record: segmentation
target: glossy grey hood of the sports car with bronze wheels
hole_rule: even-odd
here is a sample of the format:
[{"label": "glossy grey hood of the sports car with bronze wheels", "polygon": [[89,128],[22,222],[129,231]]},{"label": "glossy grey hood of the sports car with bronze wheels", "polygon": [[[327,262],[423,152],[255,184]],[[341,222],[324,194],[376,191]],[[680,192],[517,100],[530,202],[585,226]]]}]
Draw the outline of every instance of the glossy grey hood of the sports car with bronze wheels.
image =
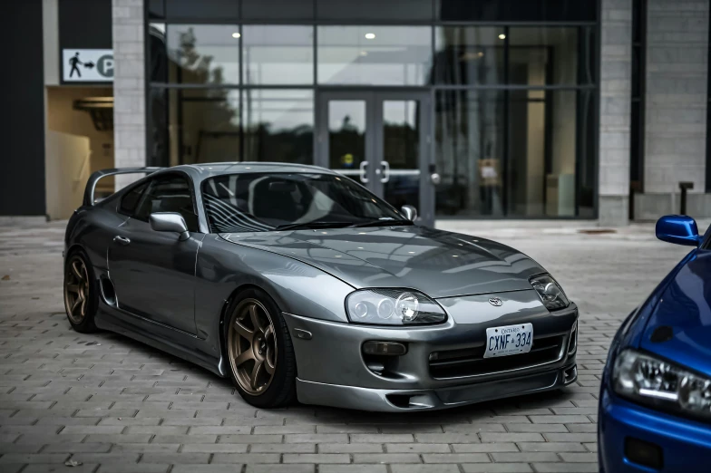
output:
[{"label": "glossy grey hood of the sports car with bronze wheels", "polygon": [[409,287],[435,298],[531,289],[529,277],[544,272],[509,246],[426,227],[220,236],[316,266],[355,288]]}]

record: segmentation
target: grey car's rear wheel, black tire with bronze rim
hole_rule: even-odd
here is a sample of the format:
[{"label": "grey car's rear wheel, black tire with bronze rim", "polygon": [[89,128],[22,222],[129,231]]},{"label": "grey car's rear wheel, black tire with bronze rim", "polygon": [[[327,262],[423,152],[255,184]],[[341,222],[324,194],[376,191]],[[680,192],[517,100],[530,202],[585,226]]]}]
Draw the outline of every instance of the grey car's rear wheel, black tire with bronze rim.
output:
[{"label": "grey car's rear wheel, black tire with bronze rim", "polygon": [[64,310],[79,333],[97,332],[94,316],[99,308],[99,285],[89,257],[76,250],[64,260]]}]

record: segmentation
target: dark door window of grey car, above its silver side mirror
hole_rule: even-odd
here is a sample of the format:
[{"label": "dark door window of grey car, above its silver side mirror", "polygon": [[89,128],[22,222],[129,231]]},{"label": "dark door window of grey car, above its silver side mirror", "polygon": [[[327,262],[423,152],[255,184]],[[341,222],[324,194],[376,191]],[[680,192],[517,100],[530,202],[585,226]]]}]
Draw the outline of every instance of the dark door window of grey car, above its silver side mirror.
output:
[{"label": "dark door window of grey car, above its silver side mirror", "polygon": [[180,176],[165,176],[151,180],[133,217],[148,221],[153,212],[178,212],[188,230],[197,232],[198,216],[195,215],[188,180]]}]

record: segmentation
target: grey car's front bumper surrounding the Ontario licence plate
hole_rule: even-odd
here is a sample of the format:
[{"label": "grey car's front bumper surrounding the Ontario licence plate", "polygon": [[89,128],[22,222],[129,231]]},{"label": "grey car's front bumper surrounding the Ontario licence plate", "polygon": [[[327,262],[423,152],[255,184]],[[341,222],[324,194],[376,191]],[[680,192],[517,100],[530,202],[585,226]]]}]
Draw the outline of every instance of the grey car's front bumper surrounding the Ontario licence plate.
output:
[{"label": "grey car's front bumper surrounding the Ontario licence plate", "polygon": [[[557,389],[575,381],[576,350],[570,344],[578,319],[575,304],[551,314],[533,290],[496,295],[503,301],[501,307],[489,304],[489,295],[439,300],[448,319],[429,326],[333,323],[283,314],[297,357],[299,401],[360,410],[443,409]],[[486,328],[518,323],[533,325],[531,353],[504,357],[496,369],[480,363]],[[551,350],[545,360],[532,356],[539,339],[546,337],[559,340],[560,348]],[[363,353],[363,344],[371,341],[403,343],[407,352],[373,360]],[[450,363],[438,357],[452,352],[472,353],[457,367],[477,368],[438,371],[435,365]],[[378,364],[385,369],[375,370]]]}]

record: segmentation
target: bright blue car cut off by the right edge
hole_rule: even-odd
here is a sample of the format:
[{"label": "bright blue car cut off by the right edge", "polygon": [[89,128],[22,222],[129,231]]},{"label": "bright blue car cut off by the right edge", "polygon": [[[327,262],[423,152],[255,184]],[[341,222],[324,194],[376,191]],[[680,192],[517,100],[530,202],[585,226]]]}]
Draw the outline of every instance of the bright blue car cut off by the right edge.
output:
[{"label": "bright blue car cut off by the right edge", "polygon": [[711,471],[711,232],[662,217],[657,238],[695,248],[622,323],[599,397],[606,473]]}]

